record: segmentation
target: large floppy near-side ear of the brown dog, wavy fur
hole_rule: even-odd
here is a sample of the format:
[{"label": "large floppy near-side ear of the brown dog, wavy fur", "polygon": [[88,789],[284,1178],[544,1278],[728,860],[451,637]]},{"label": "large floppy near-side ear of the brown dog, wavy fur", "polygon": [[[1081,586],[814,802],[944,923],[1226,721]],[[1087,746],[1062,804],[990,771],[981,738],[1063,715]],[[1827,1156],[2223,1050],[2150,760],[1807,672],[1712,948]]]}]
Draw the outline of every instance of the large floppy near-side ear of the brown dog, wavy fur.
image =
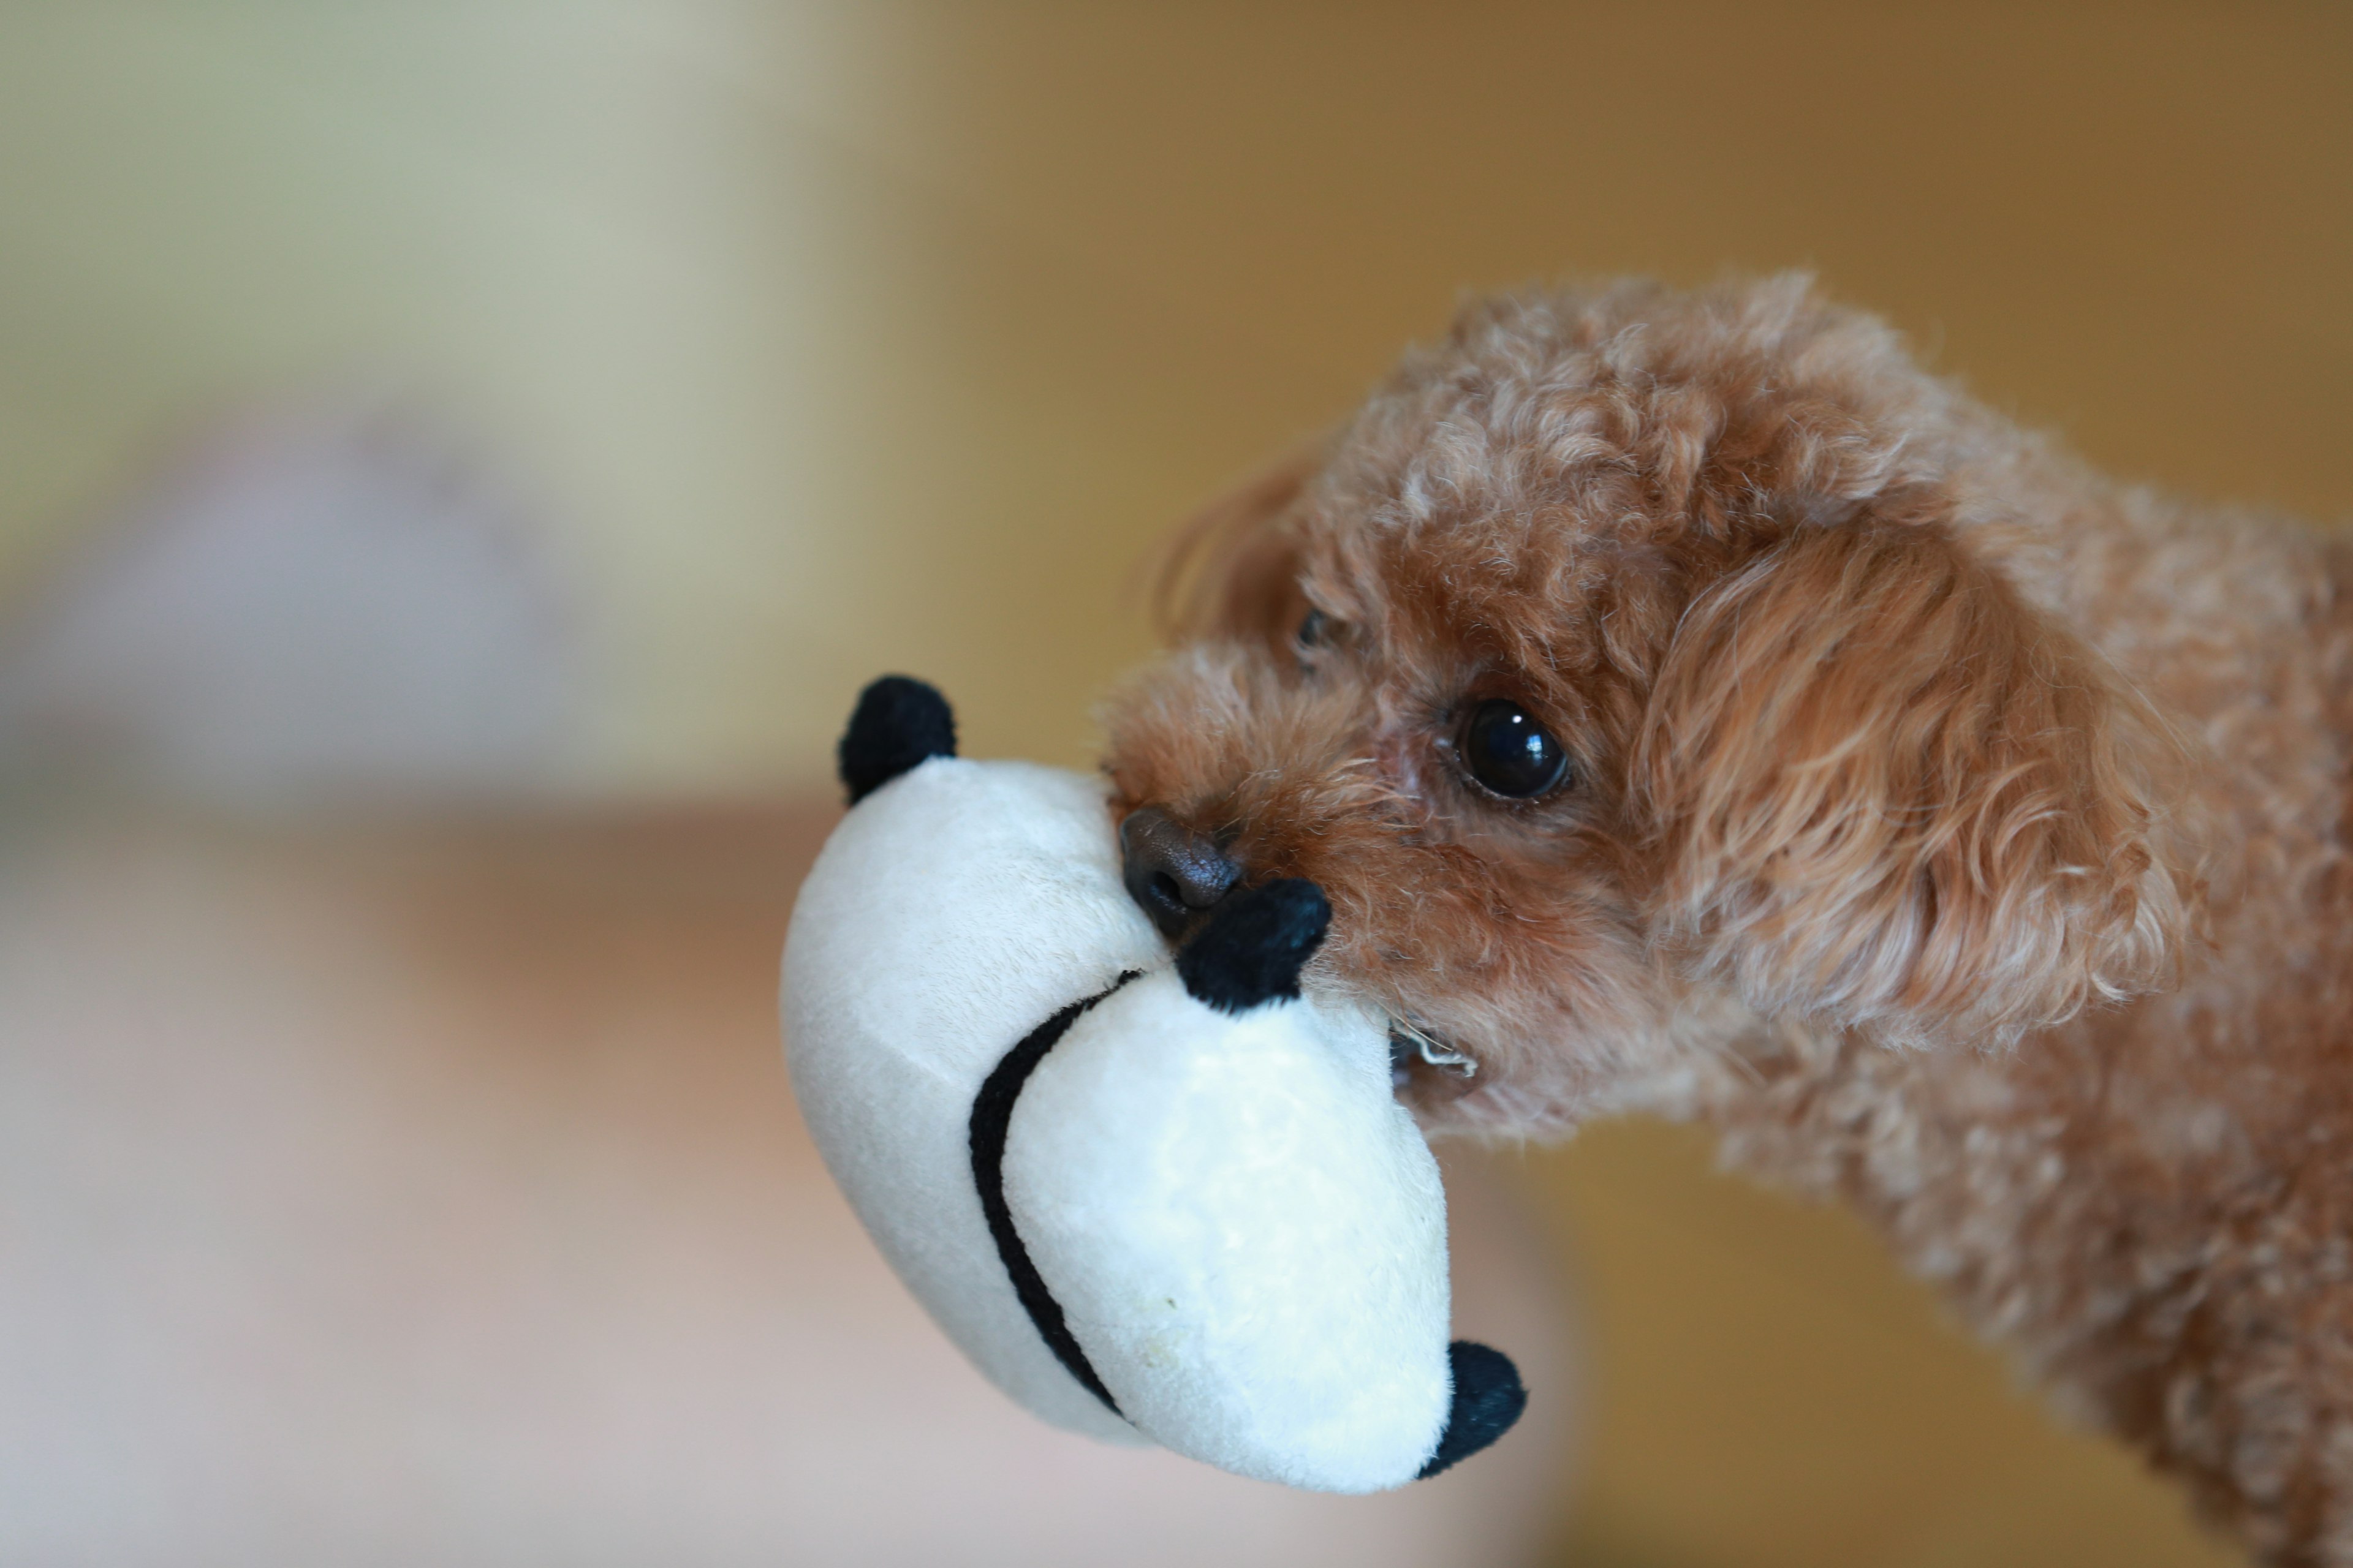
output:
[{"label": "large floppy near-side ear of the brown dog, wavy fur", "polygon": [[2200,882],[2181,745],[1929,522],[1805,522],[1706,588],[1631,795],[1659,924],[1755,1009],[2007,1044],[2162,985]]}]

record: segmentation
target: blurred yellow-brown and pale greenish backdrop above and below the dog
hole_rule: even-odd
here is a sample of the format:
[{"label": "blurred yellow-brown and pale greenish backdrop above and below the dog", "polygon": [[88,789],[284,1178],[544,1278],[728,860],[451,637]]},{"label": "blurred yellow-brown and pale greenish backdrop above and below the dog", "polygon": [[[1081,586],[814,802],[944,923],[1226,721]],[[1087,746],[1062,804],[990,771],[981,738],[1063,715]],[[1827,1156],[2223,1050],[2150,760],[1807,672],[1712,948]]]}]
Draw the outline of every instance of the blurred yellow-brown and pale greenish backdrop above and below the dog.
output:
[{"label": "blurred yellow-brown and pale greenish backdrop above and below the dog", "polygon": [[[824,788],[859,682],[1089,755],[1134,567],[1466,289],[1809,266],[2111,470],[2353,510],[2353,12],[567,0],[0,12],[0,590],[339,388],[536,501],[576,788]],[[1565,1561],[2224,1561],[1668,1128],[1577,1258]],[[1567,1507],[1567,1483],[1562,1483]]]}]

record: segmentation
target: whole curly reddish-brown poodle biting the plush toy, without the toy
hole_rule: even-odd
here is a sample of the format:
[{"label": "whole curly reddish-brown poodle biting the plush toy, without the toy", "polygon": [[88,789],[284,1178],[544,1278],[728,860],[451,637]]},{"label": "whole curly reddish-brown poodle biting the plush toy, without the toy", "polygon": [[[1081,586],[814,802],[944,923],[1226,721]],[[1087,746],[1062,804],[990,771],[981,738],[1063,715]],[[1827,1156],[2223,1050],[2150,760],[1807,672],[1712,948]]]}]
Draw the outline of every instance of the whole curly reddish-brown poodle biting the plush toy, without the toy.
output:
[{"label": "whole curly reddish-brown poodle biting the plush toy, without the toy", "polygon": [[[1708,1117],[2353,1563],[2353,555],[1791,280],[1478,306],[1209,534],[1120,804],[1325,886],[1327,980],[1475,1065],[1433,1124]],[[1558,780],[1482,783],[1489,710]]]}]

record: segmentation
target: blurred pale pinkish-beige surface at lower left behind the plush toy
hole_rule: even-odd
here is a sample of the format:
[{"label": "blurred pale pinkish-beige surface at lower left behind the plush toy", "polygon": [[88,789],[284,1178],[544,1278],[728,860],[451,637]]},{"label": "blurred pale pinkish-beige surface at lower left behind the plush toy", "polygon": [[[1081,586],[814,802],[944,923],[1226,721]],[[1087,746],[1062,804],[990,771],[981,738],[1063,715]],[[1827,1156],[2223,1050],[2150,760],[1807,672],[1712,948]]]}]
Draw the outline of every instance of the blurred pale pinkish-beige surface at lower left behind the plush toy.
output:
[{"label": "blurred pale pinkish-beige surface at lower left behind the plush toy", "polygon": [[0,837],[0,1561],[1527,1563],[1546,1248],[1449,1173],[1537,1403],[1384,1497],[1047,1429],[925,1321],[776,1051],[805,811]]}]

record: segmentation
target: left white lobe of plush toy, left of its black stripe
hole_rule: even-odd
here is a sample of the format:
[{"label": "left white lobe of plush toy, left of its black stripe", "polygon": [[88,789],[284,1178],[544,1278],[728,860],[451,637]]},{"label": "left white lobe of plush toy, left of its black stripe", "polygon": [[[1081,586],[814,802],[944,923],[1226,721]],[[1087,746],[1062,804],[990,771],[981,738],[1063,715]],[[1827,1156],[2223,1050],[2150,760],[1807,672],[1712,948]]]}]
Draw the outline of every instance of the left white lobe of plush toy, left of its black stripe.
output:
[{"label": "left white lobe of plush toy, left of its black stripe", "polygon": [[842,818],[784,947],[793,1093],[849,1206],[991,1382],[1113,1441],[1134,1429],[1071,1380],[998,1260],[972,1185],[972,1098],[1056,1011],[1165,961],[1120,889],[1101,785],[953,757]]}]

